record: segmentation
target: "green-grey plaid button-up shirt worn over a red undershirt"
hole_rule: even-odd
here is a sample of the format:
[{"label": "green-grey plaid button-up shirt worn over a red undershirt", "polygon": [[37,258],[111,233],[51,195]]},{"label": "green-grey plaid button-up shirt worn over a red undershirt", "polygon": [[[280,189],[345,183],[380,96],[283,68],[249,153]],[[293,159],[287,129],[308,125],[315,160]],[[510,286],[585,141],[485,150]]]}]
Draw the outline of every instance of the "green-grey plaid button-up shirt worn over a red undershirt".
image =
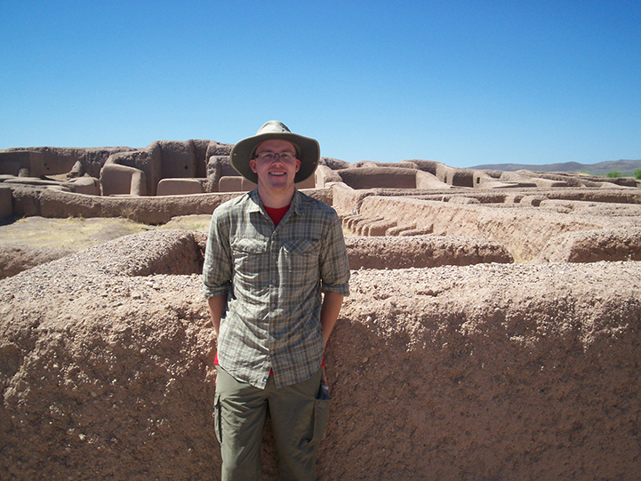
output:
[{"label": "green-grey plaid button-up shirt worn over a red undershirt", "polygon": [[212,214],[204,296],[227,294],[218,362],[236,380],[264,389],[309,379],[323,360],[321,292],[349,295],[349,263],[332,207],[300,193],[277,227],[257,190]]}]

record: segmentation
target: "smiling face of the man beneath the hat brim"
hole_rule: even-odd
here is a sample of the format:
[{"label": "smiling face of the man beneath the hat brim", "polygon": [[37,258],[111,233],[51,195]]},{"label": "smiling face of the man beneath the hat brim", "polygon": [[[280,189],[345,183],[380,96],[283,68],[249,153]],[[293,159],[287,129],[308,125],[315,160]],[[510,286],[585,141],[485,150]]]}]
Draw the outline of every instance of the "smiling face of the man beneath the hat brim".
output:
[{"label": "smiling face of the man beneath the hat brim", "polygon": [[258,175],[259,183],[270,190],[287,190],[293,187],[296,172],[300,169],[300,160],[286,160],[275,156],[271,160],[261,158],[260,154],[282,154],[284,152],[296,155],[296,148],[286,140],[265,140],[256,148],[255,156],[249,161],[252,171]]}]

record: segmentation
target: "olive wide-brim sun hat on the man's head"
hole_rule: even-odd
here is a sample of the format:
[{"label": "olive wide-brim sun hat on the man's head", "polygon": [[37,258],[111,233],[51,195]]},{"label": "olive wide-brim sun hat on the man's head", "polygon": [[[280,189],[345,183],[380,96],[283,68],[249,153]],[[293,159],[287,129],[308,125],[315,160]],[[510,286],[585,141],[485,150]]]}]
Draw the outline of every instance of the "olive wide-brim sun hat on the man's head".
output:
[{"label": "olive wide-brim sun hat on the man's head", "polygon": [[245,179],[252,180],[254,184],[258,183],[258,175],[252,171],[249,161],[253,158],[256,148],[265,140],[287,140],[296,148],[296,156],[300,160],[300,169],[296,172],[294,182],[302,182],[316,171],[320,161],[320,146],[315,139],[303,137],[297,133],[292,133],[287,125],[277,120],[270,120],[264,124],[256,135],[240,140],[234,148],[231,149],[229,158],[232,166]]}]

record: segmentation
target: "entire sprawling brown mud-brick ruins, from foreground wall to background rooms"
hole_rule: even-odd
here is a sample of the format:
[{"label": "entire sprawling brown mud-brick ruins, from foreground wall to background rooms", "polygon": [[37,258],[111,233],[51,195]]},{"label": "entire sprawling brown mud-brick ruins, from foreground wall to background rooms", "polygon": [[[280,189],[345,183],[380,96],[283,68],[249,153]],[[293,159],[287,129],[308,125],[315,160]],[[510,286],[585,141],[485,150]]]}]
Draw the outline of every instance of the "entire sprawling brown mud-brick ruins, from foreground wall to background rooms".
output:
[{"label": "entire sprawling brown mud-brick ruins, from foreground wall to background rooms", "polygon": [[[252,187],[225,144],[184,144],[99,149],[100,169],[69,159],[78,175],[36,179],[21,154],[0,183],[4,212],[161,224]],[[168,151],[188,164],[163,167]],[[189,164],[192,151],[203,160]],[[127,193],[74,191],[85,180],[104,194],[105,168]],[[324,158],[304,192],[339,212],[352,268],[325,353],[318,479],[638,478],[635,180]],[[150,229],[0,280],[1,479],[220,478],[205,239]]]}]

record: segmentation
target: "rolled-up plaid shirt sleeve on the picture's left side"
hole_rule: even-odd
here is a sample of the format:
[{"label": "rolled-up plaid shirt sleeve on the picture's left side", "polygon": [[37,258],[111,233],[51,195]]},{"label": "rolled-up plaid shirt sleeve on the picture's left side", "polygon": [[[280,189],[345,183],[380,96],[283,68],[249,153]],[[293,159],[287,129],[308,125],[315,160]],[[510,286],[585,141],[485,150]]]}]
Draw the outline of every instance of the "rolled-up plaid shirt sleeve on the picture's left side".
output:
[{"label": "rolled-up plaid shirt sleeve on the picture's left side", "polygon": [[214,211],[204,250],[203,293],[209,299],[226,294],[231,286],[232,256],[229,247],[229,221],[224,212]]}]

